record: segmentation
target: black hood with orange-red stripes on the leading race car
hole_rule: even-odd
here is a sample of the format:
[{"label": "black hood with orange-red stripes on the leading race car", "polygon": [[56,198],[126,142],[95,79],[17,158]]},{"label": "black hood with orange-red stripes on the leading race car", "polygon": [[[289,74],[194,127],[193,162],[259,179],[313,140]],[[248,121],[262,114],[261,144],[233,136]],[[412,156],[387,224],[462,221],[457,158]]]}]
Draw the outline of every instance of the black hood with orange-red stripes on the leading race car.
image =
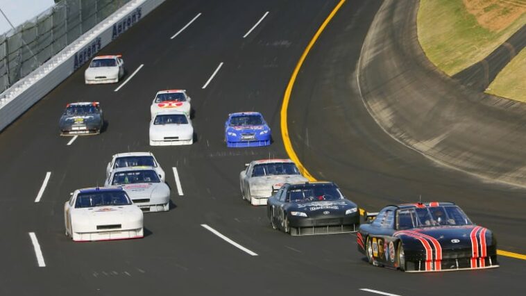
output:
[{"label": "black hood with orange-red stripes on the leading race car", "polygon": [[[475,229],[477,228],[477,229]],[[474,231],[475,229],[475,231]],[[480,240],[481,231],[484,227],[477,227],[476,225],[467,226],[442,226],[442,227],[423,227],[417,229],[408,229],[397,231],[395,236],[403,236],[403,233],[421,233],[424,236],[430,236],[439,241],[443,249],[465,249],[471,247],[471,236],[473,233],[477,241]],[[489,229],[485,230],[486,245],[493,245],[493,236]],[[407,237],[407,236],[405,236]],[[409,237],[410,241],[414,241],[418,248],[421,247],[420,242]],[[404,243],[406,240],[404,241]]]}]

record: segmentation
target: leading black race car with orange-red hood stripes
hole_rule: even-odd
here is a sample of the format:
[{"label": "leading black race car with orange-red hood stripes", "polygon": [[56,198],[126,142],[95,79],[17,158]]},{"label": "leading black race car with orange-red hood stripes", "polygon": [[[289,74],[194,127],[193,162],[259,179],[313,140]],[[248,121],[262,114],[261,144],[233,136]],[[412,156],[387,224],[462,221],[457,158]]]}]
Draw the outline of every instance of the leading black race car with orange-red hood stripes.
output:
[{"label": "leading black race car with orange-red hood stripes", "polygon": [[386,206],[357,232],[358,251],[376,266],[405,272],[497,268],[497,240],[451,202]]}]

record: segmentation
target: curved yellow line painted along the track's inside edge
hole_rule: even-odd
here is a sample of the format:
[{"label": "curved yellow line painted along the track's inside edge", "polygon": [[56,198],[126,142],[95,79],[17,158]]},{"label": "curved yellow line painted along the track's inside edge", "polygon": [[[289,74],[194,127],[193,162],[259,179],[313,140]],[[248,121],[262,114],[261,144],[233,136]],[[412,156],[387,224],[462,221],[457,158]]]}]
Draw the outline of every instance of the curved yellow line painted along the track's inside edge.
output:
[{"label": "curved yellow line painted along the track's inside edge", "polygon": [[[296,82],[296,78],[298,77],[298,73],[300,72],[301,66],[303,65],[303,62],[305,62],[305,58],[307,58],[307,55],[309,54],[309,51],[312,49],[318,38],[320,37],[323,30],[325,30],[325,27],[327,24],[329,24],[330,20],[336,15],[338,10],[341,8],[343,3],[345,3],[346,0],[339,1],[338,5],[334,7],[334,9],[331,11],[330,15],[325,19],[323,24],[318,28],[318,31],[316,31],[316,34],[314,34],[314,37],[312,40],[310,40],[309,44],[307,45],[307,48],[305,48],[305,51],[303,51],[303,54],[300,57],[300,60],[298,60],[298,63],[296,64],[296,67],[294,68],[294,72],[292,72],[291,78],[289,80],[289,84],[287,85],[287,89],[285,90],[285,94],[283,96],[283,103],[281,105],[281,137],[283,138],[283,145],[285,146],[285,151],[287,151],[287,154],[289,155],[289,158],[296,163],[298,166],[298,169],[303,174],[303,176],[307,177],[309,181],[316,181],[316,178],[312,176],[312,174],[309,173],[306,167],[303,166],[303,163],[301,163],[300,158],[298,158],[298,155],[296,155],[296,151],[294,151],[294,148],[292,147],[291,140],[289,138],[289,126],[287,124],[287,110],[289,108],[289,101],[292,94],[292,88],[294,87],[294,83]],[[359,209],[360,215],[364,215],[365,210],[363,208]],[[526,260],[526,255],[513,253],[513,252],[507,252],[502,251],[502,249],[497,250],[497,254],[500,256],[506,256],[511,258],[517,258]]]}]

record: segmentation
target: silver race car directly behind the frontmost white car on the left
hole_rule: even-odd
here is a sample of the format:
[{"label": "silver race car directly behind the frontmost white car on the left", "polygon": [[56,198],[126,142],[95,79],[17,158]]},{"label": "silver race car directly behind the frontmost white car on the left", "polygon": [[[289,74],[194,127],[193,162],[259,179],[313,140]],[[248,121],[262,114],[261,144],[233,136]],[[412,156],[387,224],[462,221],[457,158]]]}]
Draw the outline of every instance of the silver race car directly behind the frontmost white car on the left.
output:
[{"label": "silver race car directly behind the frontmost white car on the left", "polygon": [[161,212],[170,209],[170,188],[159,179],[153,167],[114,169],[104,186],[123,188],[133,204],[144,212]]}]

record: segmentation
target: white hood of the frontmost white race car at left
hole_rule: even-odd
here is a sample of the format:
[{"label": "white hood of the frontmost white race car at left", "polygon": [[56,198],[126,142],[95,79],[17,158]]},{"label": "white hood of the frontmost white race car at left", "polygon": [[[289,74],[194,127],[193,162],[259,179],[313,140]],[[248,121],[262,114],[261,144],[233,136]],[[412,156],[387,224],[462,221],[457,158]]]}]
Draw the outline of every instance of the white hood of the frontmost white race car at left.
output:
[{"label": "white hood of the frontmost white race car at left", "polygon": [[71,214],[77,222],[99,225],[134,221],[142,217],[142,211],[135,205],[75,208]]}]

